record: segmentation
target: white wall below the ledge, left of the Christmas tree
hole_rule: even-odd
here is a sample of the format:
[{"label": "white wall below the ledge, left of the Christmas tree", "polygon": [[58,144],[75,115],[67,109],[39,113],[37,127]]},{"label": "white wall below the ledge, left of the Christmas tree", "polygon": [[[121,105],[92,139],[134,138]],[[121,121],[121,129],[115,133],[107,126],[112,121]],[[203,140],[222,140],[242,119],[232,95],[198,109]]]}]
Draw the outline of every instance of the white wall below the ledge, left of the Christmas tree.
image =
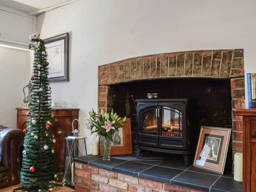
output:
[{"label": "white wall below the ledge, left of the Christmas tree", "polygon": [[24,107],[29,52],[0,46],[0,125],[16,127],[16,107]]}]

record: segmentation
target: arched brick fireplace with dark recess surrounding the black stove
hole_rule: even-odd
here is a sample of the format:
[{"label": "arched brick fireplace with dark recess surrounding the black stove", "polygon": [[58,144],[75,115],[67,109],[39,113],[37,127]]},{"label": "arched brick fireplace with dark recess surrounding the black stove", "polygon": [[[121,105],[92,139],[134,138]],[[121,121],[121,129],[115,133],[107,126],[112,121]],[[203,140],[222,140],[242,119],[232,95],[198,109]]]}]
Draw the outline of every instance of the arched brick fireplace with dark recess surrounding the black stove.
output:
[{"label": "arched brick fireplace with dark recess surrounding the black stove", "polygon": [[[230,155],[226,166],[232,167],[232,154],[242,152],[242,121],[234,113],[235,109],[245,108],[242,49],[176,52],[130,58],[99,66],[98,75],[98,106],[106,111],[114,108],[116,112],[132,119],[133,147],[138,145],[138,126],[136,103],[131,96],[141,100],[146,99],[148,92],[156,92],[161,99],[197,100],[197,111],[191,113],[188,112],[190,107],[186,108],[189,127],[191,119],[198,120],[199,128],[201,125],[232,127]],[[159,132],[159,126],[157,130]],[[198,133],[192,135],[198,136]]]}]

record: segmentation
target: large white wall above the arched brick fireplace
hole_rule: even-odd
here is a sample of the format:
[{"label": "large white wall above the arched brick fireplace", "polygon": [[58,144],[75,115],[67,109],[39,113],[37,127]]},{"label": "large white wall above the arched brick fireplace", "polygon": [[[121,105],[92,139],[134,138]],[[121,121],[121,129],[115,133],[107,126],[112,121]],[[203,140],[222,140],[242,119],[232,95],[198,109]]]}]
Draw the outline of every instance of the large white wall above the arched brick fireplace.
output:
[{"label": "large white wall above the arched brick fireplace", "polygon": [[78,0],[42,14],[42,38],[70,32],[70,82],[53,83],[52,97],[80,108],[84,124],[97,107],[97,66],[163,52],[244,48],[245,72],[256,72],[255,3]]}]

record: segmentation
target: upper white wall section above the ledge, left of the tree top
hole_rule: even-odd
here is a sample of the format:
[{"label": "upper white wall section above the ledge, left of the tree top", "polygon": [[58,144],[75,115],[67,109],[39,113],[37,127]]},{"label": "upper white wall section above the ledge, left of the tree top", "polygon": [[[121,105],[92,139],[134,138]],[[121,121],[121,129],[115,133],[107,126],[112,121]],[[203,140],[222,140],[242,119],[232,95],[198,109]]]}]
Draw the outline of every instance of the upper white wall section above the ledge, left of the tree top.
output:
[{"label": "upper white wall section above the ledge, left of the tree top", "polygon": [[1,44],[27,47],[28,36],[36,30],[36,17],[19,10],[0,6]]}]

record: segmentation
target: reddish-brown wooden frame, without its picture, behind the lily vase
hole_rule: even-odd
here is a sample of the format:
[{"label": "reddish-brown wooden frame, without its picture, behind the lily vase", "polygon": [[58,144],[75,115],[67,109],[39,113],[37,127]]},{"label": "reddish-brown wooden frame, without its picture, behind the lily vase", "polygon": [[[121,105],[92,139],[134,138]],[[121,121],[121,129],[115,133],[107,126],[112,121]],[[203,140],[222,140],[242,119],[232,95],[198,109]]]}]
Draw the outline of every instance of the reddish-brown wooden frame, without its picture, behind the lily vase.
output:
[{"label": "reddish-brown wooden frame, without its picture, behind the lily vase", "polygon": [[[112,144],[110,155],[128,155],[132,154],[132,134],[131,134],[131,119],[126,118],[126,124],[122,129],[122,144]],[[100,155],[102,156],[102,148],[100,147]]]}]

